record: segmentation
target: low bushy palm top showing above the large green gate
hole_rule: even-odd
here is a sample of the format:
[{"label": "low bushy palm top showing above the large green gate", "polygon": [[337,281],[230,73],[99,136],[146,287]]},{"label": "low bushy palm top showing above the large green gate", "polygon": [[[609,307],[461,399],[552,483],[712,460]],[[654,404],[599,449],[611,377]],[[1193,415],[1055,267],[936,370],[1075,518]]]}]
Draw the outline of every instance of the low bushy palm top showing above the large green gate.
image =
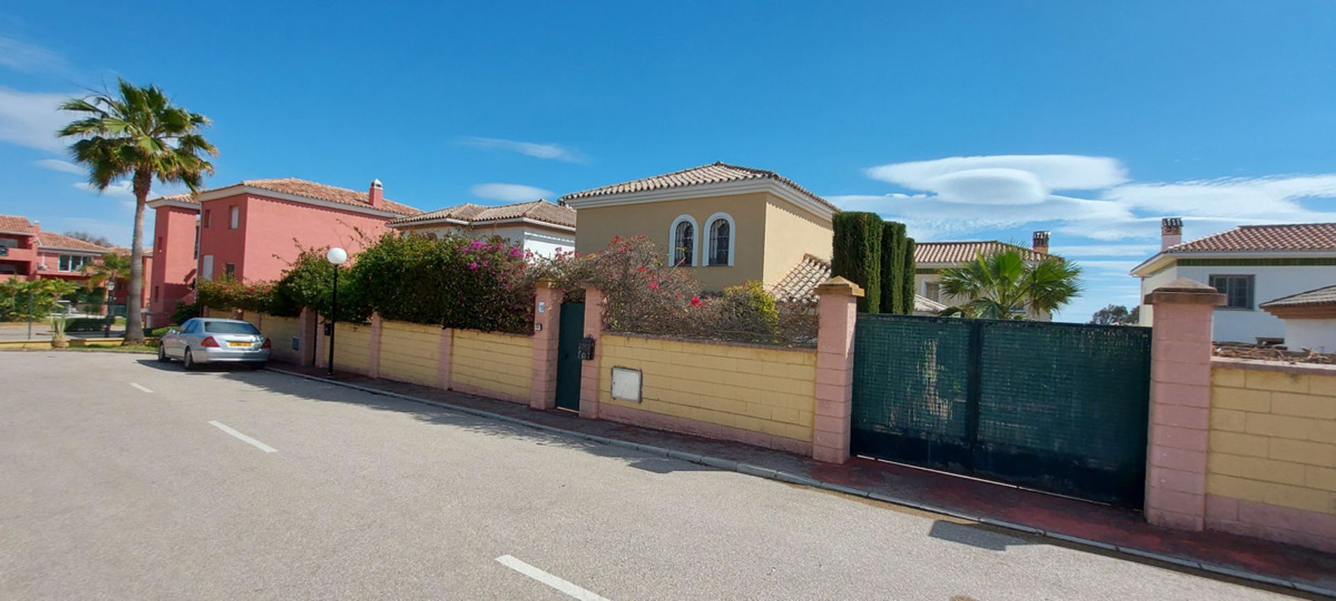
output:
[{"label": "low bushy palm top showing above the large green gate", "polygon": [[941,290],[967,299],[943,315],[1025,319],[1051,314],[1081,295],[1081,267],[1057,256],[1026,264],[1019,248],[997,250],[942,270]]}]

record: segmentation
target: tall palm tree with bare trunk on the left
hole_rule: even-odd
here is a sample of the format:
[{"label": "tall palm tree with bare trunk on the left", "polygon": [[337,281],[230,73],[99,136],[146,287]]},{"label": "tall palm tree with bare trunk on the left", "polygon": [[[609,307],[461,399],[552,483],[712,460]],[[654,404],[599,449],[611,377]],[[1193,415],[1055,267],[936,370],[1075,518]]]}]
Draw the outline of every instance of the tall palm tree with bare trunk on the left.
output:
[{"label": "tall palm tree with bare trunk on the left", "polygon": [[130,178],[135,192],[135,234],[130,244],[130,296],[126,303],[126,345],[144,342],[140,315],[143,299],[144,207],[154,178],[162,183],[184,183],[198,191],[214,166],[203,155],[218,150],[200,134],[208,118],[171,103],[156,85],[140,88],[118,81],[118,96],[94,93],[69,99],[63,111],[86,115],[59,131],[61,138],[77,138],[69,146],[75,162],[88,167],[88,183],[99,191],[120,178]]}]

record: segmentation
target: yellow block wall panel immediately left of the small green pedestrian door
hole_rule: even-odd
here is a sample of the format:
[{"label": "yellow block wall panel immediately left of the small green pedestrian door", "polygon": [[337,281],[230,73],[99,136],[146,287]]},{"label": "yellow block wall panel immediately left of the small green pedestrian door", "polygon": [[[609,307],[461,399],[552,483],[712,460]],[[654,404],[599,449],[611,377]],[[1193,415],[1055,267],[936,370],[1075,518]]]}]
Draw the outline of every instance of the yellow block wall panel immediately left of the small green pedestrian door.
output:
[{"label": "yellow block wall panel immediately left of the small green pedestrian door", "polygon": [[490,391],[512,401],[528,399],[532,365],[533,339],[529,337],[454,330],[450,355],[453,385]]}]

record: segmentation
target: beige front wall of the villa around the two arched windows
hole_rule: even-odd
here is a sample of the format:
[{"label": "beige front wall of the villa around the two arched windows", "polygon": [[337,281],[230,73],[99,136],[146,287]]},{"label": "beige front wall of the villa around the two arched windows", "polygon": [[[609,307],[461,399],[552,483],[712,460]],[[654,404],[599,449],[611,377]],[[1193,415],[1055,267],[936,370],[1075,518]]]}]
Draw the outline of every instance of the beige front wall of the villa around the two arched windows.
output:
[{"label": "beige front wall of the villa around the two arched windows", "polygon": [[[673,219],[679,215],[691,215],[696,219],[696,255],[697,263],[700,263],[705,256],[709,240],[705,219],[716,212],[727,212],[733,218],[736,226],[733,266],[692,267],[692,274],[707,290],[723,290],[725,286],[764,279],[767,198],[767,194],[756,192],[581,208],[580,228],[576,231],[576,251],[580,254],[595,252],[605,248],[616,236],[644,235],[667,258],[671,248],[668,230],[672,227]],[[830,252],[828,240],[826,247],[826,252]],[[795,260],[794,264],[796,263]]]}]

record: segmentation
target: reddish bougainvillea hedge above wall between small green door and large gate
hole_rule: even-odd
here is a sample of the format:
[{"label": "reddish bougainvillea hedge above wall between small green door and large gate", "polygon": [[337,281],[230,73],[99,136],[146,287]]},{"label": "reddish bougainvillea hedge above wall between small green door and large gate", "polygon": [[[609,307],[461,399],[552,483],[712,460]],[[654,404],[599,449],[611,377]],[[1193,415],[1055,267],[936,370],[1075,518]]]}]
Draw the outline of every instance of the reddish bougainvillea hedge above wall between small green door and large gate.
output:
[{"label": "reddish bougainvillea hedge above wall between small green door and large gate", "polygon": [[607,248],[538,260],[528,279],[548,278],[568,290],[603,291],[604,329],[763,345],[816,342],[814,303],[782,303],[760,282],[703,292],[687,268],[667,264],[644,236],[615,238]]}]

